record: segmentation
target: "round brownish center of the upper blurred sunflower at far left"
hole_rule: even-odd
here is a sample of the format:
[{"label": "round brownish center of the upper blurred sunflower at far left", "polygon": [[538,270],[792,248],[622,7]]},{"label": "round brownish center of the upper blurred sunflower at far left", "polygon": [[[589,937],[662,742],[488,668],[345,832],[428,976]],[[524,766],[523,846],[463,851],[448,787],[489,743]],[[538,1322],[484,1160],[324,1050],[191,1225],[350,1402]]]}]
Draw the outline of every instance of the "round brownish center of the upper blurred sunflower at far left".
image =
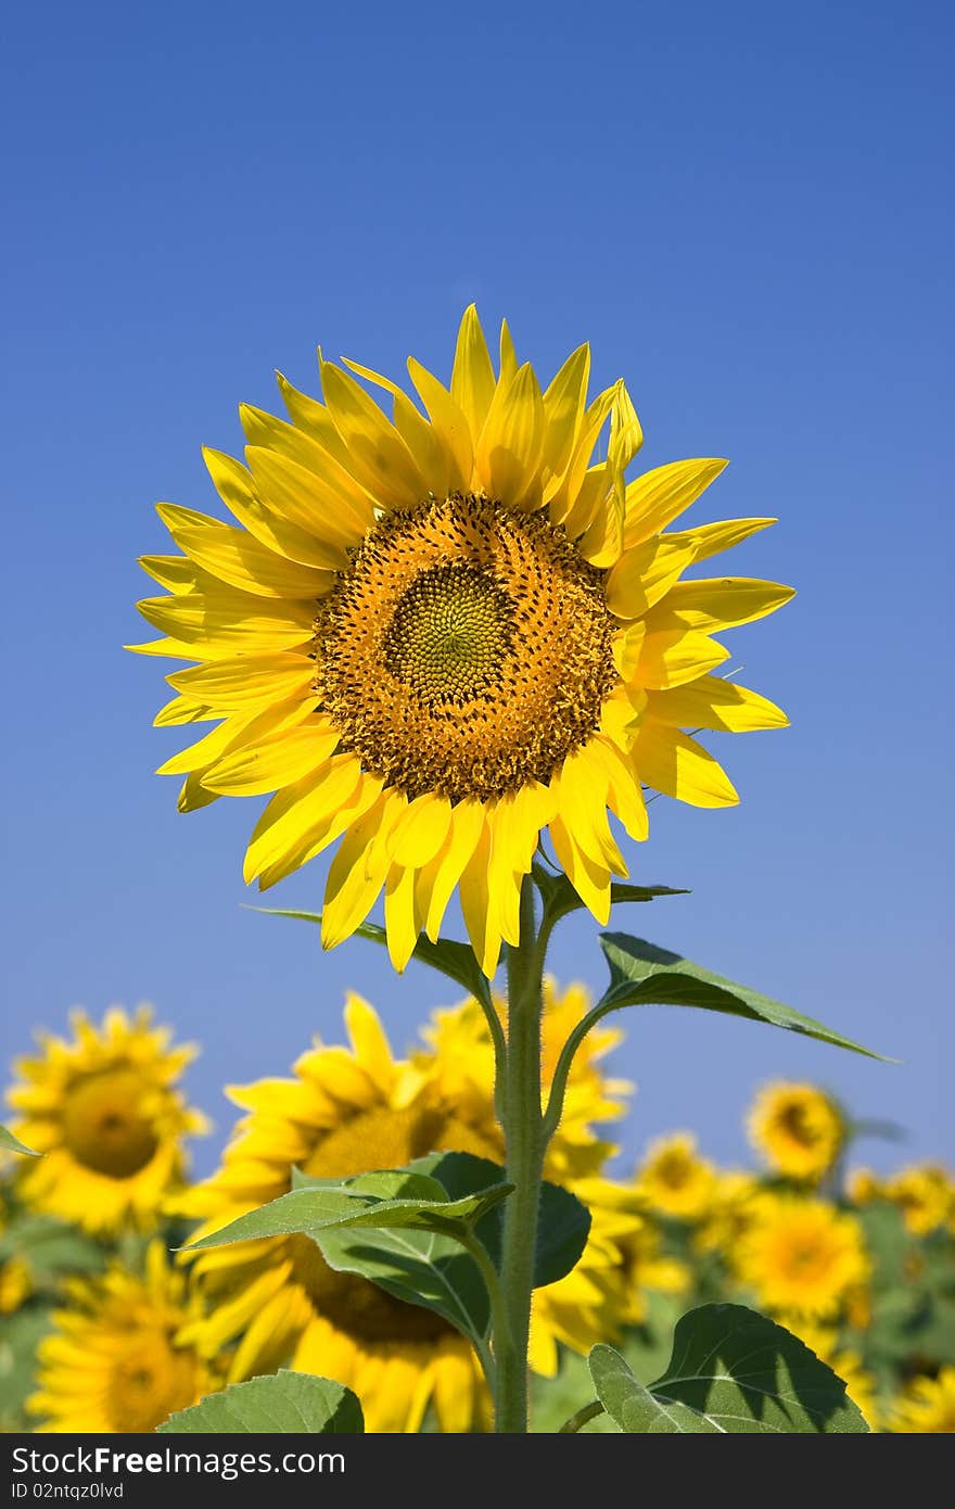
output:
[{"label": "round brownish center of the upper blurred sunflower at far left", "polygon": [[63,1141],[75,1160],[110,1179],[131,1179],[154,1156],[158,1138],[131,1067],[86,1074],[66,1094]]}]

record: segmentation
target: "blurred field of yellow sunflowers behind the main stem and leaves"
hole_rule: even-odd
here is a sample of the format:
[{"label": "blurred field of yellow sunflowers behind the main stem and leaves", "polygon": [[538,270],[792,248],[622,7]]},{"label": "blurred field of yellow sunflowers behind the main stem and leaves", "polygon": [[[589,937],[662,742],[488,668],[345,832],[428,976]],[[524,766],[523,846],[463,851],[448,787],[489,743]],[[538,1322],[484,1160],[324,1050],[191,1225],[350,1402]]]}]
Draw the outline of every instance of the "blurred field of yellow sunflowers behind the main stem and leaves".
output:
[{"label": "blurred field of yellow sunflowers behind the main stem and leaves", "polygon": [[[545,982],[543,1083],[588,1008]],[[352,996],[344,1044],[314,1043],[285,1077],[229,1086],[238,1108],[216,1172],[189,1177],[205,1130],[180,1076],[195,1053],[148,1010],[74,1014],[14,1065],[5,1153],[0,1311],[5,1431],[149,1432],[229,1384],[279,1369],[338,1379],[367,1431],[480,1432],[480,1358],[435,1311],[336,1272],[306,1236],[199,1252],[190,1239],[306,1176],[398,1166],[431,1150],[501,1162],[493,1044],[474,999],[438,1010],[398,1058]],[[649,1384],[680,1316],[754,1307],[845,1382],[872,1431],[955,1432],[955,1182],[934,1165],[877,1179],[854,1159],[851,1112],[816,1085],[760,1088],[754,1162],[720,1168],[691,1132],[619,1171],[613,1123],[632,1085],[597,1028],[578,1055],[546,1176],[590,1213],[566,1277],[536,1290],[531,1429],[560,1431],[610,1343]],[[225,1397],[225,1396],[223,1396]],[[620,1429],[606,1414],[584,1431]]]}]

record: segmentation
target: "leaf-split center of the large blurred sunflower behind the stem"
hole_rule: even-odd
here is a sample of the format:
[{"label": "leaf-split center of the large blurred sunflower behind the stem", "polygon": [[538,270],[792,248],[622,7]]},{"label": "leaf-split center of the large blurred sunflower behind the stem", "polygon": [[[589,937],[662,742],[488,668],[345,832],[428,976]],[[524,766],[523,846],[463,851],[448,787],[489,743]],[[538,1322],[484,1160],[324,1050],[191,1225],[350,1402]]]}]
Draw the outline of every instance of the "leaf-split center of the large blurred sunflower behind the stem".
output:
[{"label": "leaf-split center of the large blurred sunflower behind the stem", "polygon": [[[376,1106],[335,1127],[305,1162],[315,1179],[345,1179],[368,1168],[401,1168],[425,1153],[475,1153],[499,1159],[472,1127],[433,1108],[392,1111]],[[392,1299],[383,1289],[352,1274],[336,1274],[308,1237],[290,1239],[294,1277],[318,1314],[364,1342],[435,1342],[453,1328],[431,1310]]]}]

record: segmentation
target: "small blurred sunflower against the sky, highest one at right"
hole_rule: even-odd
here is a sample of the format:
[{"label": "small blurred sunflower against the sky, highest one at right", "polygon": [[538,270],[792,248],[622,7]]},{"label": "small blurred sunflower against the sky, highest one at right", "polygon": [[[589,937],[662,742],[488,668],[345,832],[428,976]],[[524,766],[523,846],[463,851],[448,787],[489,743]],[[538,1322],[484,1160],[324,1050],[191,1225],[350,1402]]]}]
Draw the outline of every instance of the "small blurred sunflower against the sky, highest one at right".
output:
[{"label": "small blurred sunflower against the sky, highest one at right", "polygon": [[822,1179],[845,1142],[839,1106],[815,1085],[763,1085],[747,1126],[753,1147],[785,1179]]}]

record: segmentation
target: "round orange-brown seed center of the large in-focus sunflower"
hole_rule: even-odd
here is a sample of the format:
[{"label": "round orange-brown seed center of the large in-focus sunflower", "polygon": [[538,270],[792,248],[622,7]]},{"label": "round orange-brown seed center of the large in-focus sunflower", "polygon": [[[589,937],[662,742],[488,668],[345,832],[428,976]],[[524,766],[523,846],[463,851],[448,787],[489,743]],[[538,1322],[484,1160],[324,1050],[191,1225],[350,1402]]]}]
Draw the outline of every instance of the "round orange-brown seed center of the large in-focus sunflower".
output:
[{"label": "round orange-brown seed center of the large in-focus sunflower", "polygon": [[385,515],[315,620],[339,748],[409,798],[551,780],[617,679],[603,575],[563,527],[489,498]]}]

